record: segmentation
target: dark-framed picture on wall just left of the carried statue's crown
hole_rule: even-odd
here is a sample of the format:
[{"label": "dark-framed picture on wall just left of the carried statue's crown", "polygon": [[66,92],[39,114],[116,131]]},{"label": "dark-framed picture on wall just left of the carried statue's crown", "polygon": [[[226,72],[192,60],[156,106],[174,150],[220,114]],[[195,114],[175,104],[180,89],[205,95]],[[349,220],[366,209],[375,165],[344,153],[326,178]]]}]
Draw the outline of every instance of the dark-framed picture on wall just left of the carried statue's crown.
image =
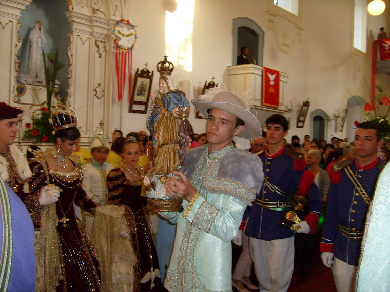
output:
[{"label": "dark-framed picture on wall just left of the carried statue's crown", "polygon": [[135,71],[129,113],[146,114],[154,74],[146,67],[147,65],[140,72],[138,68]]}]

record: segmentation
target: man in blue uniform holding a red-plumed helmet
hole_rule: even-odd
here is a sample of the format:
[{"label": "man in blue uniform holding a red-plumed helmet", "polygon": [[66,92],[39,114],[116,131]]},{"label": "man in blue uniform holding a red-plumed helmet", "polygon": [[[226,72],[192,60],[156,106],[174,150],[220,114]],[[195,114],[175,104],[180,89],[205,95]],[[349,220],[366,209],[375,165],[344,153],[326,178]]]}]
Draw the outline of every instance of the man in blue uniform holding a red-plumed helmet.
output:
[{"label": "man in blue uniform holding a red-plumed helmet", "polygon": [[294,231],[282,225],[280,219],[293,207],[293,192],[298,189],[299,195],[309,198],[310,214],[293,228],[313,234],[322,202],[303,154],[284,147],[286,118],[274,114],[265,122],[267,148],[259,155],[265,180],[251,207],[245,234],[249,236],[249,252],[260,290],[287,291],[294,269]]}]

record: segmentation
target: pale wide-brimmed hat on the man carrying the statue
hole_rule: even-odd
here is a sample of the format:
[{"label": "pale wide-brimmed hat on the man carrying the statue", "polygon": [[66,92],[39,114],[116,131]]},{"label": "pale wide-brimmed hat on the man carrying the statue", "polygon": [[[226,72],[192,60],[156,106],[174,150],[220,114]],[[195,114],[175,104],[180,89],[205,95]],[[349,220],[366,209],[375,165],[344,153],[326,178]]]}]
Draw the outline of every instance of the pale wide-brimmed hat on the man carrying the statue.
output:
[{"label": "pale wide-brimmed hat on the man carrying the statue", "polygon": [[191,102],[206,118],[210,109],[219,109],[242,119],[245,125],[244,130],[238,135],[241,138],[255,139],[262,134],[260,122],[246,109],[244,101],[231,92],[220,91],[211,101],[193,99]]}]

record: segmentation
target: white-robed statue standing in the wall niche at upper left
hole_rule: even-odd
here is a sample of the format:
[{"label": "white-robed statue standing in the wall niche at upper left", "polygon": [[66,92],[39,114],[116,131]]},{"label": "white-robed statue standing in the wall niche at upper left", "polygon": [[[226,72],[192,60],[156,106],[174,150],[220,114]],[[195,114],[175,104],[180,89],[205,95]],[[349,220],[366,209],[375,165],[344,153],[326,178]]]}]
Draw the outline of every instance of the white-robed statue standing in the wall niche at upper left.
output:
[{"label": "white-robed statue standing in the wall niche at upper left", "polygon": [[30,31],[25,51],[21,60],[18,81],[21,83],[45,84],[45,68],[42,50],[45,51],[46,38],[42,31],[42,22],[35,22]]}]

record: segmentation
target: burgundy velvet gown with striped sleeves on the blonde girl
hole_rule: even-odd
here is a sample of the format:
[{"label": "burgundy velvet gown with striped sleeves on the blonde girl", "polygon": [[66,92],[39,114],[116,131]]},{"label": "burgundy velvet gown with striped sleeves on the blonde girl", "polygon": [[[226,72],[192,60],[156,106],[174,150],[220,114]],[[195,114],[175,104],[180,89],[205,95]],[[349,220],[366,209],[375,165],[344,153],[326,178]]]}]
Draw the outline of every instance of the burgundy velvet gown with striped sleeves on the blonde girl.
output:
[{"label": "burgundy velvet gown with striped sleeves on the blonde girl", "polygon": [[[131,220],[128,224],[136,228],[136,240],[134,240],[134,252],[138,256],[138,282],[139,291],[166,291],[161,283],[159,261],[154,242],[145,217],[141,201],[141,187],[143,168],[137,165],[141,174],[141,180],[130,181],[121,168],[115,168],[108,173],[108,204],[123,204],[131,210]],[[134,222],[135,220],[135,222]],[[135,244],[136,242],[136,244]]]}]

